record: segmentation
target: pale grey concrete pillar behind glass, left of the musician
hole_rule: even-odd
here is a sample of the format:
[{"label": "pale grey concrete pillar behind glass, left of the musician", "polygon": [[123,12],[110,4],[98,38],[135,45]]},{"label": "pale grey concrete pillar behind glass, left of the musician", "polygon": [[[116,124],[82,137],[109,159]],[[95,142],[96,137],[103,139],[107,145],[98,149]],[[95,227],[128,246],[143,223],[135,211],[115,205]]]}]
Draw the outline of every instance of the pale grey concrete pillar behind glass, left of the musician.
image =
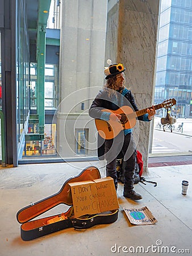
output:
[{"label": "pale grey concrete pillar behind glass, left of the musician", "polygon": [[61,104],[57,116],[57,145],[62,156],[77,155],[75,129],[84,129],[91,119],[87,110],[96,95],[91,88],[103,86],[106,19],[107,0],[62,1]]}]

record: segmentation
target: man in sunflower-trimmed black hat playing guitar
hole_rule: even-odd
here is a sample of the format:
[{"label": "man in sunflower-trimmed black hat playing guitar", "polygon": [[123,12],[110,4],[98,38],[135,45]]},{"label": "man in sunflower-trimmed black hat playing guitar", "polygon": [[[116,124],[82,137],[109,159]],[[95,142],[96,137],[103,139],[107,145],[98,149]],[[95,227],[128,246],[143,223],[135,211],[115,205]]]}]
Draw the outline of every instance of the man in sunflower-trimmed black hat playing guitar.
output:
[{"label": "man in sunflower-trimmed black hat playing guitar", "polygon": [[[122,151],[125,162],[124,172],[124,191],[123,196],[133,200],[142,199],[139,193],[133,190],[134,172],[136,166],[136,146],[132,136],[132,119],[136,122],[136,115],[139,109],[135,104],[131,90],[124,85],[123,72],[126,70],[123,64],[111,64],[107,61],[109,67],[105,68],[106,85],[99,91],[89,109],[90,117],[95,118],[95,124],[100,125],[98,129],[98,156],[105,157],[107,160],[106,176],[114,179],[115,188],[118,187],[118,179],[116,175],[116,156]],[[132,115],[118,113],[118,109],[122,106],[133,109]],[[161,106],[162,108],[162,106]],[[155,116],[155,107],[145,109],[144,114],[139,113],[137,119],[140,121],[151,121]],[[104,122],[103,122],[104,121]],[[102,122],[105,125],[102,125]],[[111,125],[113,123],[114,125]],[[128,127],[128,128],[127,128]],[[106,131],[106,133],[105,133]]]}]

